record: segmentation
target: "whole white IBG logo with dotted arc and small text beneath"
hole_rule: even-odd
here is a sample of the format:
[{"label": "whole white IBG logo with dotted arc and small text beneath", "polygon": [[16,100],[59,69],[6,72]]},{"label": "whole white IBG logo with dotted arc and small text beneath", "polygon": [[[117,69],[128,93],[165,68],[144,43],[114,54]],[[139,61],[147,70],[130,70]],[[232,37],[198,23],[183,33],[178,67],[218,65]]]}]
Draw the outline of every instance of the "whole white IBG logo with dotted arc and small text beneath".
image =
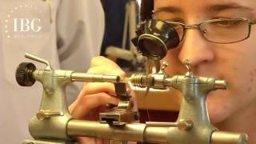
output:
[{"label": "whole white IBG logo with dotted arc and small text beneath", "polygon": [[6,16],[6,38],[41,38],[42,20],[46,15],[32,4],[14,6]]}]

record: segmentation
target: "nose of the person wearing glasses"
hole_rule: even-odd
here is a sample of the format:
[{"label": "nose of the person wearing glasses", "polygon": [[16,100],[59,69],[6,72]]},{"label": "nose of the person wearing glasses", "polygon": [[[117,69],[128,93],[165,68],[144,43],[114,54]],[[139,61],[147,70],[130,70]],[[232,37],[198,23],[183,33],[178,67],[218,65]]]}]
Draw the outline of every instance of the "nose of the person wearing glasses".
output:
[{"label": "nose of the person wearing glasses", "polygon": [[192,67],[212,61],[214,59],[214,50],[210,43],[203,38],[197,29],[186,30],[186,35],[181,43],[181,50],[178,54],[179,60],[184,62],[188,59]]}]

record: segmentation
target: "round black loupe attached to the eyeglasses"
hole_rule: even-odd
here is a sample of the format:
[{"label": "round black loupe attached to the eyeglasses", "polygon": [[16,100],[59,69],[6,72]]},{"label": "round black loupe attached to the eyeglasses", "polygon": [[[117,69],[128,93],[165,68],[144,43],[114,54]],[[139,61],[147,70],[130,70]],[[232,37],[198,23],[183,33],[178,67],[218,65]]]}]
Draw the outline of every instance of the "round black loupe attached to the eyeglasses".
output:
[{"label": "round black loupe attached to the eyeglasses", "polygon": [[173,26],[157,19],[142,22],[136,33],[138,37],[132,40],[134,45],[143,56],[154,60],[164,58],[167,50],[177,47],[180,41]]}]

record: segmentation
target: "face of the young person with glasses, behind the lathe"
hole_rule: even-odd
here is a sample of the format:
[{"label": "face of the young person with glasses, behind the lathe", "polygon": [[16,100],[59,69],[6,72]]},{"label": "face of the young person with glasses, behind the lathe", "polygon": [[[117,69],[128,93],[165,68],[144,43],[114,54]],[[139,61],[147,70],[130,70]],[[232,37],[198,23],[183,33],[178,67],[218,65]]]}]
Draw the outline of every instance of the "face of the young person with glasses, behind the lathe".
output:
[{"label": "face of the young person with glasses, behind the lathe", "polygon": [[[214,18],[256,19],[255,0],[154,0],[154,18],[186,24]],[[182,61],[189,59],[195,75],[225,79],[227,90],[208,95],[207,106],[212,122],[222,122],[238,110],[256,103],[256,25],[250,38],[236,43],[207,42],[197,29],[186,30],[177,49],[169,50],[164,61],[170,66],[167,74],[185,74]],[[182,94],[171,89],[181,101]]]}]

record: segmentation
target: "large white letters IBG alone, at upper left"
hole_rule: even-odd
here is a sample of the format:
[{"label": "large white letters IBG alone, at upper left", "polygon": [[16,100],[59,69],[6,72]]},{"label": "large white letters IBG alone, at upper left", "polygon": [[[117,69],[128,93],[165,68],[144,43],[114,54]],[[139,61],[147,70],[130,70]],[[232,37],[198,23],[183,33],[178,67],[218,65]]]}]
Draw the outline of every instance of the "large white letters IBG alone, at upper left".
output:
[{"label": "large white letters IBG alone, at upper left", "polygon": [[13,18],[14,20],[14,32],[28,32],[30,30],[38,32],[42,30],[40,26],[41,19],[27,19],[27,18]]}]

